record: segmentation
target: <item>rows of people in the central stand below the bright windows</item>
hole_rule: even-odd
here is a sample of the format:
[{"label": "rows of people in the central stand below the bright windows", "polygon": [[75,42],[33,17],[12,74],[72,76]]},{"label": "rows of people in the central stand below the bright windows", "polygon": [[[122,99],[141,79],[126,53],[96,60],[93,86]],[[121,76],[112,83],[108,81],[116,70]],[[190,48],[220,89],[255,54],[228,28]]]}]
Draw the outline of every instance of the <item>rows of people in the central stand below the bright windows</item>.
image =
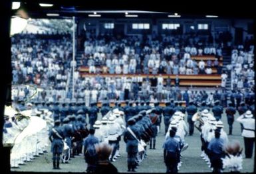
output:
[{"label": "rows of people in the central stand below the bright windows", "polygon": [[[86,40],[84,42],[84,54],[82,54],[81,58],[78,57],[77,65],[89,67],[92,73],[96,71],[96,67],[106,66],[108,69],[105,68],[104,70],[108,71],[108,73],[138,73],[142,69],[143,73],[149,73],[150,69],[154,69],[156,73],[158,71],[166,71],[166,73],[174,74],[178,74],[179,67],[183,66],[189,69],[188,73],[197,74],[205,73],[203,71],[205,64],[209,67],[222,65],[219,62],[222,56],[221,48],[216,51],[214,46],[211,46],[211,48],[206,46],[201,48],[203,47],[201,46],[197,49],[194,46],[163,46],[158,40],[147,42],[146,44],[139,41],[138,39],[131,42],[124,38],[119,42],[108,42],[106,44],[105,40]],[[206,58],[207,62],[203,62],[203,57],[201,56],[209,54],[212,57]],[[192,56],[197,56],[195,60],[201,58],[201,61],[199,63],[193,61]],[[116,72],[115,67],[118,65],[120,67],[116,68]],[[194,72],[193,69],[195,69]],[[201,71],[197,69],[201,69]],[[185,72],[183,71],[182,73]],[[210,71],[208,72],[210,73]]]}]

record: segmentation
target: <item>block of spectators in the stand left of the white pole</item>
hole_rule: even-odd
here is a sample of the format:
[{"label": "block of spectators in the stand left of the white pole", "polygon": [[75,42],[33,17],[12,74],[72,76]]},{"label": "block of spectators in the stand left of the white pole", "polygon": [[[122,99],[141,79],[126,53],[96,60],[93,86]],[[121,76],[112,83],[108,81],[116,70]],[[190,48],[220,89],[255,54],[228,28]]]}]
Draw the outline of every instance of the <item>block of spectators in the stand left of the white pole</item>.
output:
[{"label": "block of spectators in the stand left of the white pole", "polygon": [[[66,91],[72,58],[70,36],[17,34],[11,43],[13,85],[31,84],[60,93]],[[16,93],[23,94],[24,90],[19,88]]]}]

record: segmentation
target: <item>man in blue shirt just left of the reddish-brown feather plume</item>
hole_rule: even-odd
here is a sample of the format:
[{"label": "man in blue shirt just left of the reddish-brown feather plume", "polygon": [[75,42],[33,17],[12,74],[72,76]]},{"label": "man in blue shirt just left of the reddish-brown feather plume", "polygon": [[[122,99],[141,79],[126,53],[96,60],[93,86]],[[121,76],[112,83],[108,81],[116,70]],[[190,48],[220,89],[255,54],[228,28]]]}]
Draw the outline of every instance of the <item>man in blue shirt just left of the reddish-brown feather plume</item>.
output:
[{"label": "man in blue shirt just left of the reddish-brown feather plume", "polygon": [[94,173],[98,161],[98,155],[95,145],[99,143],[98,138],[94,136],[94,128],[90,128],[89,135],[84,139],[84,158],[87,163],[86,172]]}]

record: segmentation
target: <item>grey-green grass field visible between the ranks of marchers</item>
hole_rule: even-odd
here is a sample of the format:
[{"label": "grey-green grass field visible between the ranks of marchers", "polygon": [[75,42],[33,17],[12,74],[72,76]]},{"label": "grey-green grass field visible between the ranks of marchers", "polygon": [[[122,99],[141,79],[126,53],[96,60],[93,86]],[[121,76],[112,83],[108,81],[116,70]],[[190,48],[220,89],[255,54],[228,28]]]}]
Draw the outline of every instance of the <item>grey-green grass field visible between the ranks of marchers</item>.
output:
[{"label": "grey-green grass field visible between the ranks of marchers", "polygon": [[[238,115],[235,116],[237,118]],[[222,116],[222,121],[224,123],[224,130],[228,133],[227,118],[225,114]],[[187,136],[185,138],[186,142],[189,144],[188,149],[182,152],[182,167],[180,167],[179,173],[207,173],[211,170],[207,167],[207,164],[199,155],[201,154],[201,141],[199,138],[199,131],[195,129],[193,136]],[[244,147],[243,137],[241,137],[241,128],[238,122],[233,124],[233,135],[229,136],[229,140],[239,140],[241,146]],[[160,134],[156,140],[156,150],[148,150],[148,157],[142,161],[137,171],[139,173],[165,173],[166,166],[164,165],[162,144],[164,143],[164,123],[162,120],[162,126]],[[117,167],[118,171],[121,173],[127,172],[127,161],[125,152],[126,145],[122,140],[120,143],[120,154],[116,162],[113,164]],[[244,149],[244,148],[243,148]],[[254,170],[254,157],[255,150],[253,151],[253,157],[251,159],[243,159],[243,169],[242,173],[253,172]],[[244,156],[244,152],[243,152]],[[26,165],[21,165],[19,169],[12,169],[12,171],[35,171],[35,172],[84,172],[86,169],[86,163],[84,158],[81,156],[76,156],[72,158],[69,164],[61,164],[61,170],[53,170],[51,163],[51,153],[45,153],[34,159],[33,161],[26,163]],[[224,172],[228,172],[224,170]]]}]

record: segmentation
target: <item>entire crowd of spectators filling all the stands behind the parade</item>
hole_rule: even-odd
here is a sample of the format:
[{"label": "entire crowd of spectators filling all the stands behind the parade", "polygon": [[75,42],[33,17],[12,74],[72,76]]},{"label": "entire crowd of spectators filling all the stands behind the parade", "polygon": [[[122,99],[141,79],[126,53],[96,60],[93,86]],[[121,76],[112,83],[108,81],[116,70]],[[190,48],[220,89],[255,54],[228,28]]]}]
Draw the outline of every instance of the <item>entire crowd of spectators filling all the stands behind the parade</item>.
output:
[{"label": "entire crowd of spectators filling all the stands behind the parade", "polygon": [[[43,34],[44,35],[44,34]],[[39,92],[38,99],[43,101],[59,101],[72,98],[72,90],[66,90],[68,72],[74,65],[74,99],[84,99],[86,105],[92,101],[127,99],[168,101],[190,100],[213,103],[213,93],[188,89],[181,91],[179,74],[211,74],[212,67],[220,67],[221,47],[205,44],[200,39],[185,40],[189,45],[181,44],[181,38],[163,37],[160,40],[152,37],[127,36],[116,39],[112,36],[92,38],[90,34],[84,42],[84,54],[80,65],[90,67],[90,73],[98,73],[94,77],[81,77],[78,72],[78,62],[72,61],[72,43],[69,35],[18,34],[11,38],[13,85],[35,84],[44,90]],[[196,43],[196,44],[195,44]],[[195,45],[192,45],[195,44]],[[204,45],[205,44],[205,45]],[[215,60],[196,62],[192,56],[211,55]],[[235,67],[233,83],[238,91],[225,91],[225,83],[229,78],[227,72],[221,75],[219,100],[228,97],[245,97],[243,88],[251,95],[254,89],[253,47],[249,52],[243,52],[242,46],[237,46],[232,52],[232,65]],[[134,77],[103,77],[97,67],[106,67],[105,73],[139,73],[174,74],[176,79],[166,79],[162,75],[154,78]],[[242,73],[241,73],[242,72]],[[218,72],[219,73],[219,72]],[[241,83],[241,81],[243,83]],[[68,88],[67,88],[68,89]],[[235,95],[233,94],[235,93]],[[13,93],[15,99],[29,95],[27,87],[20,87]],[[216,98],[216,97],[215,97]]]}]

